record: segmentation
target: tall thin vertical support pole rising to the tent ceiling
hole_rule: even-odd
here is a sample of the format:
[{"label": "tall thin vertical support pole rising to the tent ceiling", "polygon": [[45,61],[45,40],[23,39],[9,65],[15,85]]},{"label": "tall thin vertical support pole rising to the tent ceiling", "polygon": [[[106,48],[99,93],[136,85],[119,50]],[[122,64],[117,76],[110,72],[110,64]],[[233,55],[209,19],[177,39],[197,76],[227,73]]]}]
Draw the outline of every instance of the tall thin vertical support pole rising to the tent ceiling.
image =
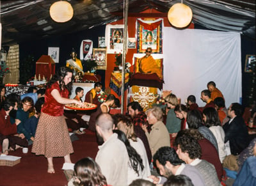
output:
[{"label": "tall thin vertical support pole rising to the tent ceiling", "polygon": [[122,59],[122,88],[121,88],[121,114],[124,114],[124,88],[125,88],[125,61],[126,61],[126,48],[127,48],[127,22],[128,22],[128,10],[129,0],[124,0],[124,47],[123,47],[123,59]]}]

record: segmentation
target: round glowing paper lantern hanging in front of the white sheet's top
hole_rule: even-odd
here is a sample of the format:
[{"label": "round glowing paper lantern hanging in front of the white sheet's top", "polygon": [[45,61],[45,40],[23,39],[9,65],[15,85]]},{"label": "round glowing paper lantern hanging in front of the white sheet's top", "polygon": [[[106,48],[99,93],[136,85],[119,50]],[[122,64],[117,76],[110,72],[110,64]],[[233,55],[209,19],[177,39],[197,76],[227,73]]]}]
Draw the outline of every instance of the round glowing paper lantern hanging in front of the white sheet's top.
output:
[{"label": "round glowing paper lantern hanging in front of the white sheet's top", "polygon": [[186,27],[192,20],[192,10],[183,3],[176,3],[168,12],[168,20],[175,27]]}]

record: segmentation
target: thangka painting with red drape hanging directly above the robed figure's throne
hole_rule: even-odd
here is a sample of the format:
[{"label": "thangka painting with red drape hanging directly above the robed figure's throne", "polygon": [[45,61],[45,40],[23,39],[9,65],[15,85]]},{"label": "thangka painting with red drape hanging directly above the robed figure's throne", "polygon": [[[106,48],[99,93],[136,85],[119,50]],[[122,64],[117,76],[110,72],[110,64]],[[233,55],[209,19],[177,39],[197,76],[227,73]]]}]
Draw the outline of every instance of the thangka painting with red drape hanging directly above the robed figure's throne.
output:
[{"label": "thangka painting with red drape hanging directly above the robed figure's throne", "polygon": [[137,52],[145,53],[148,47],[152,48],[152,53],[163,53],[162,50],[162,30],[163,19],[142,20],[137,19]]}]

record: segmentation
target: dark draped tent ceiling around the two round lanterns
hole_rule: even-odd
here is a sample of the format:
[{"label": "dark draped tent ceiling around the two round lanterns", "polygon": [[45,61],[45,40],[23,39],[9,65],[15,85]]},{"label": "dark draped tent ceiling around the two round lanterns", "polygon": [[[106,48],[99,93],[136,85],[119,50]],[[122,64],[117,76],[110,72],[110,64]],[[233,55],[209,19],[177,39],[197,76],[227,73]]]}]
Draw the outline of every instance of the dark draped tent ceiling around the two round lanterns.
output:
[{"label": "dark draped tent ceiling around the two round lanterns", "polygon": [[[1,1],[2,45],[76,33],[123,18],[123,0],[69,0],[74,8],[73,18],[65,23],[54,22],[49,8],[56,1]],[[180,2],[129,0],[129,13],[154,8],[167,16],[170,7]],[[219,31],[236,31],[255,39],[255,0],[184,0],[183,3],[192,9],[195,24]]]}]

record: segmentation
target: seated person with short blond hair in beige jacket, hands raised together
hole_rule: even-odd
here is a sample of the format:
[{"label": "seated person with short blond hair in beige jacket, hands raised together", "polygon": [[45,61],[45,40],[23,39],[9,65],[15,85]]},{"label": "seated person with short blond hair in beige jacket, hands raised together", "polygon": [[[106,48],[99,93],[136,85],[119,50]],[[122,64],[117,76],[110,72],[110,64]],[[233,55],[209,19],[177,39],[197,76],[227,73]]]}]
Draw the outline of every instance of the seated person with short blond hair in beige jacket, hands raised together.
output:
[{"label": "seated person with short blond hair in beige jacket, hands raised together", "polygon": [[163,111],[159,107],[152,107],[146,111],[147,121],[149,125],[152,125],[150,133],[146,125],[142,125],[152,155],[162,146],[170,146],[170,136],[167,128],[163,123]]}]

